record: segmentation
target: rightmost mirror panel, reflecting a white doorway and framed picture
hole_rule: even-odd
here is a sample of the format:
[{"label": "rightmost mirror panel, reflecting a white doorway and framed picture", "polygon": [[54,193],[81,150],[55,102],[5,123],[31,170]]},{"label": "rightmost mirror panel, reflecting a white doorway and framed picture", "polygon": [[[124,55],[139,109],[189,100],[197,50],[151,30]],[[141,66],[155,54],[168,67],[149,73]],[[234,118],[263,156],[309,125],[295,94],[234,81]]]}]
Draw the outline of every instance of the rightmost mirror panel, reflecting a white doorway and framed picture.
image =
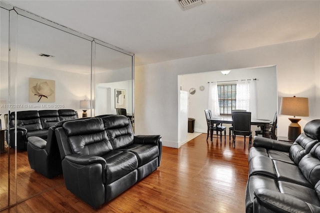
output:
[{"label": "rightmost mirror panel, reflecting a white doorway and framed picture", "polygon": [[95,115],[116,114],[116,108],[133,114],[132,56],[96,43],[94,64]]}]

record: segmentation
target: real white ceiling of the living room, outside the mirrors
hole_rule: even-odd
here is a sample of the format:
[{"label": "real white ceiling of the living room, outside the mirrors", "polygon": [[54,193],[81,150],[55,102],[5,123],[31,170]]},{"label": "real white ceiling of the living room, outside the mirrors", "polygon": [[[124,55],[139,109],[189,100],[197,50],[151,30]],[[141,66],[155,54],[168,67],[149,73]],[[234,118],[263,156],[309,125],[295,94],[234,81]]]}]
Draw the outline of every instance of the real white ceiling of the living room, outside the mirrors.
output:
[{"label": "real white ceiling of the living room, outside the mirrors", "polygon": [[320,0],[5,0],[135,53],[135,65],[313,38]]}]

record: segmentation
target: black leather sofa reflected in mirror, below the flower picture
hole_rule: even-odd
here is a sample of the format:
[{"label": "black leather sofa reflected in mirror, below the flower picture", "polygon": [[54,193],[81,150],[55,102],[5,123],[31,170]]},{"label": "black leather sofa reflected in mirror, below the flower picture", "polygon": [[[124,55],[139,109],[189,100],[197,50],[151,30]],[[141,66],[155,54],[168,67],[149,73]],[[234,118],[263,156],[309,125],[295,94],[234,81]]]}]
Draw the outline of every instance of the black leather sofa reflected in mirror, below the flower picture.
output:
[{"label": "black leather sofa reflected in mirror, below the flower picture", "polygon": [[9,117],[10,147],[14,147],[15,138],[15,114],[16,114],[16,146],[18,150],[26,150],[27,138],[38,136],[46,139],[49,127],[56,122],[78,117],[73,109],[58,110],[27,110],[11,112]]}]

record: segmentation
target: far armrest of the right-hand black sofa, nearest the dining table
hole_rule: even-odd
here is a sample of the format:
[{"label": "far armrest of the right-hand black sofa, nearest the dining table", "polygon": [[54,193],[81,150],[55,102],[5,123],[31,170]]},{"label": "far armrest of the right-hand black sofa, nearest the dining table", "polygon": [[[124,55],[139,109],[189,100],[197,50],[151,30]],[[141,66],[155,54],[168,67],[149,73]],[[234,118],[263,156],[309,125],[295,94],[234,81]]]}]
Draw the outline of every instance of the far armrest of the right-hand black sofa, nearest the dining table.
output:
[{"label": "far armrest of the right-hand black sofa, nearest the dining table", "polygon": [[266,149],[289,152],[291,145],[291,142],[279,141],[260,136],[253,137],[253,146],[263,147]]}]

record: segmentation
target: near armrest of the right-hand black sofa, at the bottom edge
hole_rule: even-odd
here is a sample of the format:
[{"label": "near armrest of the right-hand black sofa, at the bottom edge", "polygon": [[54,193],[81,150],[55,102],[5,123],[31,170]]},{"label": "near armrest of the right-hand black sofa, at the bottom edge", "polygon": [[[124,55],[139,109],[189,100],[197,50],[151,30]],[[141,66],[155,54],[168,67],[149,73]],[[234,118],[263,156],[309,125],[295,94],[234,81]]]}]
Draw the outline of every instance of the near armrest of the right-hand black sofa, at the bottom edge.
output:
[{"label": "near armrest of the right-hand black sofa, at the bottom edge", "polygon": [[253,212],[320,212],[319,206],[278,191],[259,188],[253,194]]}]

